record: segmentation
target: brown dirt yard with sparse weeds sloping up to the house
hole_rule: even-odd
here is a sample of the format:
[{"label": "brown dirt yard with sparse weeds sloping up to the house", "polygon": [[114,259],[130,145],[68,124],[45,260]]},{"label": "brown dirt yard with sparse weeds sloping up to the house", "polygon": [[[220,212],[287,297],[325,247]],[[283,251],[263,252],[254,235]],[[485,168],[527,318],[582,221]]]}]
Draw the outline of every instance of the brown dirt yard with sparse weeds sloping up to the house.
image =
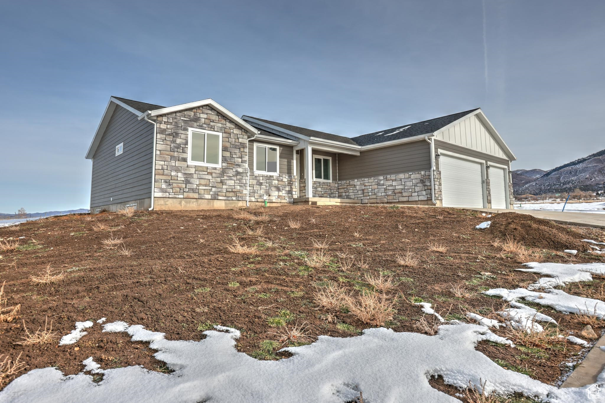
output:
[{"label": "brown dirt yard with sparse weeds sloping up to the house", "polygon": [[[492,220],[491,228],[475,229],[486,220]],[[125,333],[102,333],[100,326],[87,329],[76,344],[58,346],[76,321],[100,318],[142,324],[168,339],[198,340],[214,324],[235,327],[242,332],[237,348],[260,359],[286,358],[276,350],[287,341],[278,340],[296,325],[307,327],[301,343],[318,335],[355,336],[378,325],[431,334],[434,316],[414,303],[432,303],[446,319],[467,321],[466,312],[488,316],[504,303],[481,291],[527,286],[539,277],[514,271],[524,261],[603,261],[584,253],[589,248],[580,240],[586,237],[603,241],[605,231],[512,212],[485,218],[476,211],[403,206],[102,213],[30,221],[0,228],[0,245],[13,243],[0,249],[2,298],[6,306],[21,304],[19,318],[0,323],[0,353],[21,354],[27,368],[18,375],[48,366],[78,373],[90,356],[102,368],[139,364],[169,371],[148,344],[131,342]],[[507,240],[525,247],[507,252]],[[572,256],[564,249],[580,252]],[[41,274],[56,282],[32,280]],[[566,290],[603,299],[605,279],[594,278],[580,290],[577,284]],[[318,295],[335,287],[357,302],[320,306]],[[382,316],[359,313],[357,298],[376,294],[392,309]],[[552,334],[578,333],[585,326],[578,315],[528,305],[557,320],[558,328],[547,329]],[[14,344],[27,335],[24,322],[32,333],[44,330],[47,318],[56,332],[51,342]],[[604,327],[603,321],[592,324],[597,333]],[[556,337],[543,344],[514,339],[505,329],[494,332],[518,347],[481,342],[478,350],[551,384],[569,370],[564,362],[585,353]],[[456,392],[439,380],[433,385]]]}]

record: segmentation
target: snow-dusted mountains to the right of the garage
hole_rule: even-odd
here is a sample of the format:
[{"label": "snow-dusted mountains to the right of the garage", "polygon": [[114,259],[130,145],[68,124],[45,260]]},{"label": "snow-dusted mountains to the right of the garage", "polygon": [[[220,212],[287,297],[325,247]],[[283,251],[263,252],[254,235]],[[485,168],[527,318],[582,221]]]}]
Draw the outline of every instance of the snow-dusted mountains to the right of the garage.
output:
[{"label": "snow-dusted mountains to the right of the garage", "polygon": [[511,173],[515,194],[565,193],[577,188],[601,191],[605,182],[605,149],[550,171],[516,169]]}]

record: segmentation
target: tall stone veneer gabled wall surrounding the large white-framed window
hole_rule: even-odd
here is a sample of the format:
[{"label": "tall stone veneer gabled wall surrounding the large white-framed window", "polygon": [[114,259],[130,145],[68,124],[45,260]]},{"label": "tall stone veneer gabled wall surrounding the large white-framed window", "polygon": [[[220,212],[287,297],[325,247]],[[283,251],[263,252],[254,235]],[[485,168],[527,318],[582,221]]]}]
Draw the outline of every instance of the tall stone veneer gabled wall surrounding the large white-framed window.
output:
[{"label": "tall stone veneer gabled wall surrounding the large white-framed window", "polygon": [[[222,166],[188,165],[189,128],[223,133]],[[154,196],[246,200],[247,132],[210,106],[157,117]]]}]

